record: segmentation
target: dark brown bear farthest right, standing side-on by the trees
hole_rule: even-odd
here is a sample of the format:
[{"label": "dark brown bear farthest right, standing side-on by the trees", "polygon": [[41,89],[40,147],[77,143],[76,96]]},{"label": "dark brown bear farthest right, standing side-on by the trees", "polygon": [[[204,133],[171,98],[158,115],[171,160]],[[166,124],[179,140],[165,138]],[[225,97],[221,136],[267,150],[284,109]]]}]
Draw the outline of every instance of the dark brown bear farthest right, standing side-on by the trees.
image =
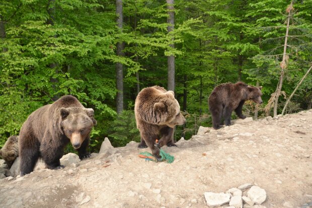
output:
[{"label": "dark brown bear farthest right, standing side-on by the trees", "polygon": [[225,125],[230,125],[231,113],[235,110],[239,118],[245,119],[242,108],[245,100],[262,103],[261,87],[246,85],[243,82],[236,84],[225,83],[216,86],[208,98],[209,111],[212,116],[214,129],[220,128],[221,117],[224,117]]}]

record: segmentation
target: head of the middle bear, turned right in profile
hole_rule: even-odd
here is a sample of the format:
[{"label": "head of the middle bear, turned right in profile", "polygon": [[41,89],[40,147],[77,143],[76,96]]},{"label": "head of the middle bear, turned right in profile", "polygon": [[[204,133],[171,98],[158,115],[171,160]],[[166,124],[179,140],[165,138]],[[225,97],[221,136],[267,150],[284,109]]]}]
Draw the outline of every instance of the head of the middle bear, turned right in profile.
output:
[{"label": "head of the middle bear, turned right in profile", "polygon": [[180,105],[175,99],[173,91],[160,94],[160,100],[153,104],[155,114],[160,116],[159,125],[167,125],[174,128],[176,125],[183,125],[185,118],[180,112]]}]

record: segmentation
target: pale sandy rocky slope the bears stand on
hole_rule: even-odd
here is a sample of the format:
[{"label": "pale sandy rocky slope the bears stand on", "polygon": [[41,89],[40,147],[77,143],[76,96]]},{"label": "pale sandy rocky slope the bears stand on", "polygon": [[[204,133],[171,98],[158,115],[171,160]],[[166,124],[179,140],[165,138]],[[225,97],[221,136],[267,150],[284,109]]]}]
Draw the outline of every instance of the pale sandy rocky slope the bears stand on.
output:
[{"label": "pale sandy rocky slope the bears stand on", "polygon": [[311,144],[312,110],[208,129],[165,147],[175,156],[172,164],[139,158],[137,143],[112,148],[106,140],[101,154],[67,161],[64,169],[1,179],[0,206],[208,207],[205,192],[251,183],[266,191],[265,207],[306,208],[312,204]]}]

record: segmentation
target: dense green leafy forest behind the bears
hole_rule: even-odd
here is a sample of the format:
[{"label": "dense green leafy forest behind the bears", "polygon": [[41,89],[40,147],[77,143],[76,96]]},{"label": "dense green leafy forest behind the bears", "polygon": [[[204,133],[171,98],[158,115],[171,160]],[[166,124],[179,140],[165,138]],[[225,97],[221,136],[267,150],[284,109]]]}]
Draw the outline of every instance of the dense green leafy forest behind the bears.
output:
[{"label": "dense green leafy forest behind the bears", "polygon": [[[311,0],[1,1],[0,147],[67,94],[95,110],[92,152],[105,136],[139,141],[134,101],[153,85],[174,90],[184,111],[176,140],[211,126],[207,99],[221,83],[263,86],[264,103],[245,114],[280,114],[311,66],[311,11]],[[309,74],[285,113],[311,100]]]}]

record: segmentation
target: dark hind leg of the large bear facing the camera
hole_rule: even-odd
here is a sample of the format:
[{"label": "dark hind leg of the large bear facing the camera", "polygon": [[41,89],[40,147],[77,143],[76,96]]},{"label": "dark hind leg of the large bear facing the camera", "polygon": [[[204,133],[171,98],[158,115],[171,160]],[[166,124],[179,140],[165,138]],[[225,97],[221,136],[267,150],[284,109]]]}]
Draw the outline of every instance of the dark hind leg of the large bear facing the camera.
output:
[{"label": "dark hind leg of the large bear facing the camera", "polygon": [[[23,133],[22,133],[23,134]],[[20,170],[21,176],[29,174],[35,168],[35,165],[40,157],[40,144],[36,138],[31,138],[30,135],[20,136]]]}]

